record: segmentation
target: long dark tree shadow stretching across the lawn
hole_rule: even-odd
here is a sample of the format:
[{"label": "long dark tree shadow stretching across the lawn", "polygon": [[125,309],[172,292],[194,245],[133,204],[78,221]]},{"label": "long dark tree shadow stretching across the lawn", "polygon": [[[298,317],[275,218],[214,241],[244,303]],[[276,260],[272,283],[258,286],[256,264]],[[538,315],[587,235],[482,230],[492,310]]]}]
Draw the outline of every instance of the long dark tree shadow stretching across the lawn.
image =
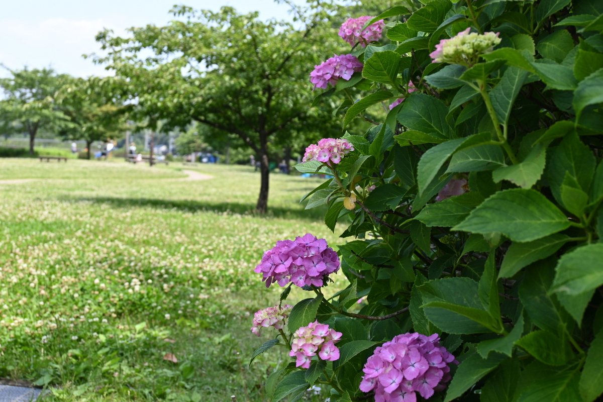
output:
[{"label": "long dark tree shadow stretching across the lawn", "polygon": [[136,207],[153,207],[157,209],[177,209],[181,212],[217,212],[217,213],[238,213],[241,215],[250,215],[266,218],[282,218],[282,219],[304,219],[309,221],[322,221],[326,206],[317,207],[309,210],[289,209],[285,207],[270,207],[266,215],[260,215],[255,210],[255,204],[245,203],[204,203],[201,201],[193,201],[188,199],[160,199],[160,198],[121,198],[121,197],[80,197],[71,198],[65,197],[64,201],[72,202],[91,202],[95,204],[109,204],[116,208],[136,208]]}]

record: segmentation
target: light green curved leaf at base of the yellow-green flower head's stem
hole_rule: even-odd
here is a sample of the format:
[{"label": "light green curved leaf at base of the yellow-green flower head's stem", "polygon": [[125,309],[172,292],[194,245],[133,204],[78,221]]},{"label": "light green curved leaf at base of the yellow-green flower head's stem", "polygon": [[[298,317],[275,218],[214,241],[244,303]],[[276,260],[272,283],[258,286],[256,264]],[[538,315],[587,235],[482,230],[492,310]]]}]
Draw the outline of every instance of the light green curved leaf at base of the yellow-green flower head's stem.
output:
[{"label": "light green curved leaf at base of the yellow-green flower head's stem", "polygon": [[529,152],[528,156],[517,165],[505,166],[492,172],[495,183],[500,180],[508,180],[524,189],[529,189],[540,179],[545,171],[546,148],[538,143]]}]

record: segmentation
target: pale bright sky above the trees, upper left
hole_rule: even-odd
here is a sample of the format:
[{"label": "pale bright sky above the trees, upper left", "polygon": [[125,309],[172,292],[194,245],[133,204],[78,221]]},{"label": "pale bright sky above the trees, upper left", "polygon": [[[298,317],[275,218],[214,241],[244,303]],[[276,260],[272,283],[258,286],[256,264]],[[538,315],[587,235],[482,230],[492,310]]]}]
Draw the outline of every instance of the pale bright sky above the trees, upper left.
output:
[{"label": "pale bright sky above the trees, upper left", "polygon": [[[0,63],[10,69],[50,66],[75,77],[111,75],[82,57],[100,51],[96,33],[109,28],[125,35],[129,27],[164,25],[174,19],[174,4],[215,11],[229,5],[241,13],[259,11],[262,19],[291,19],[288,7],[273,0],[0,0]],[[0,68],[0,77],[8,75]]]}]

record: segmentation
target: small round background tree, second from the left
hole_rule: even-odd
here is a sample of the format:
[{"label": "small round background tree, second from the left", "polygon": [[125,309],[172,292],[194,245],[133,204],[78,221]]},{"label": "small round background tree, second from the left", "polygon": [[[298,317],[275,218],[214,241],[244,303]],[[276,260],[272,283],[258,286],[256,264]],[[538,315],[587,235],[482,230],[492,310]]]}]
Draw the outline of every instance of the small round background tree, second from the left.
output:
[{"label": "small round background tree, second from the left", "polygon": [[57,106],[70,123],[59,133],[69,139],[86,140],[88,159],[93,142],[113,138],[125,129],[131,107],[116,99],[120,87],[113,77],[73,78],[57,93]]}]

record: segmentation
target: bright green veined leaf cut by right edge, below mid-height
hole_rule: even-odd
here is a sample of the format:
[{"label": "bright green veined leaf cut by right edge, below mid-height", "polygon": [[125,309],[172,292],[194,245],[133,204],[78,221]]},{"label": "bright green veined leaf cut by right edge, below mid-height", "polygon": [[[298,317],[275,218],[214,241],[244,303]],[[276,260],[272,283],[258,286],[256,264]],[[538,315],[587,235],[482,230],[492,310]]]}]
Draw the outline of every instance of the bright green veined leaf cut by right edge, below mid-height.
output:
[{"label": "bright green veined leaf cut by right edge, below mid-height", "polygon": [[603,243],[593,243],[564,254],[557,263],[552,291],[570,295],[596,289],[603,284]]}]

